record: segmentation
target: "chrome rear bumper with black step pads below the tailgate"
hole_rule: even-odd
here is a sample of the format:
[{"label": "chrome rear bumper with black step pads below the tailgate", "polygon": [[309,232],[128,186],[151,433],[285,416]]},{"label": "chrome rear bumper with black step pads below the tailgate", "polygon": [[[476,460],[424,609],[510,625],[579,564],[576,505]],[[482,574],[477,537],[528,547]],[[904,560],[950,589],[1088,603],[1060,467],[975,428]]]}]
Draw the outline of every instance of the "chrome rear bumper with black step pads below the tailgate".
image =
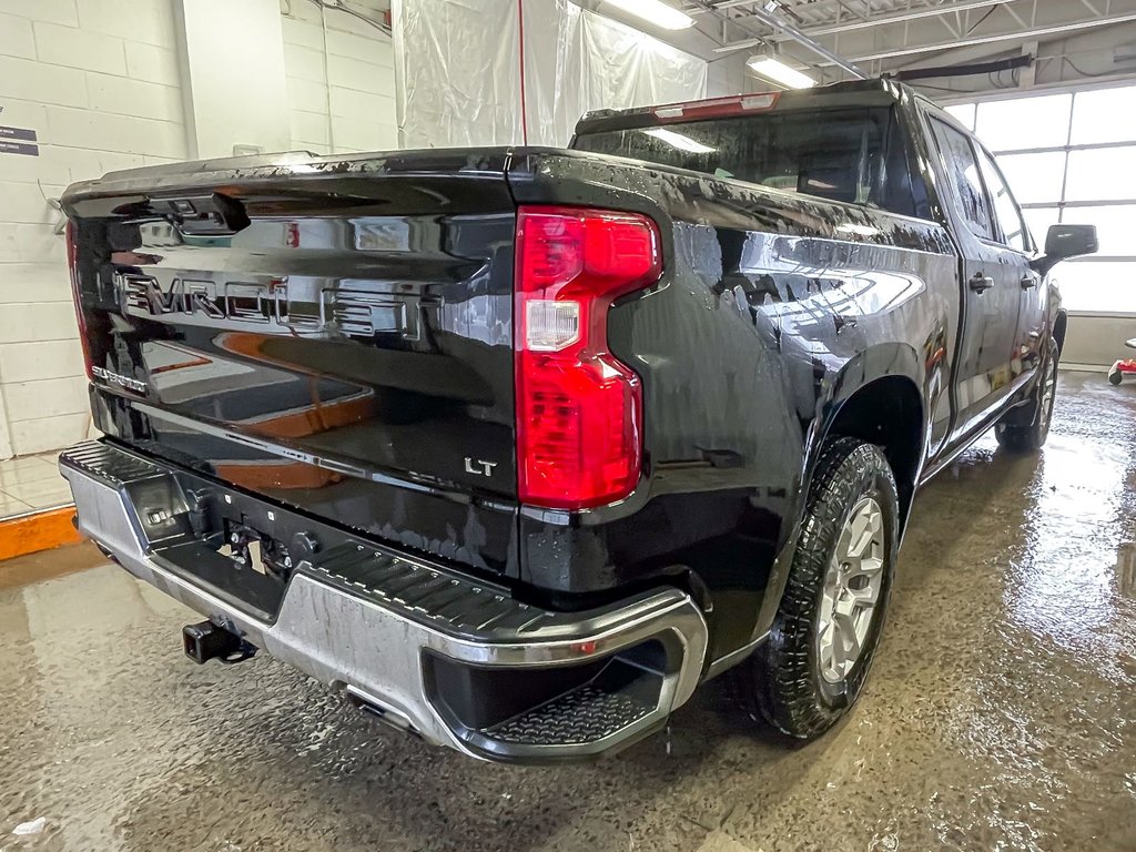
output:
[{"label": "chrome rear bumper with black step pads below the tailgate", "polygon": [[[617,750],[661,727],[702,677],[707,624],[677,588],[544,610],[108,443],[72,448],[59,466],[80,531],[127,571],[396,727],[473,757]],[[266,537],[307,526],[319,546],[296,553],[286,582],[266,576],[218,552],[235,521]]]}]

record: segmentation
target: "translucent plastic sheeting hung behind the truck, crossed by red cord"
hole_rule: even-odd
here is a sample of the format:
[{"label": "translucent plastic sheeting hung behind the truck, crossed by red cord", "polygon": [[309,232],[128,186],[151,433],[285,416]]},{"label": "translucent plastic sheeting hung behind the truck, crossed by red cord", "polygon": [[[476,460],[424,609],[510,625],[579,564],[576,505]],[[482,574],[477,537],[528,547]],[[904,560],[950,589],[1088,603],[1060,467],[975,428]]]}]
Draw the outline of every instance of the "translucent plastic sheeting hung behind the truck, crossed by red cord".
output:
[{"label": "translucent plastic sheeting hung behind the truck, crossed by red cord", "polygon": [[569,0],[395,0],[393,12],[404,148],[563,147],[587,110],[705,94],[703,60]]}]

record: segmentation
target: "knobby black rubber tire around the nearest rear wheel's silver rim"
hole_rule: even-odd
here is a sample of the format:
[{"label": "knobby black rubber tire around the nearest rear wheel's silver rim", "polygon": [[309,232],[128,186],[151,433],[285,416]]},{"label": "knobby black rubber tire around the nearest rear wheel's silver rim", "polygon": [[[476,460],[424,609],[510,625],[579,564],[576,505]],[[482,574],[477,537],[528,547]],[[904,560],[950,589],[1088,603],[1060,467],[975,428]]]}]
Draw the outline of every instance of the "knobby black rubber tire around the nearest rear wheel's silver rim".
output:
[{"label": "knobby black rubber tire around the nearest rear wheel's silver rim", "polygon": [[[822,676],[818,634],[825,578],[852,510],[871,496],[883,516],[878,602],[859,657],[838,683]],[[883,630],[899,551],[899,498],[879,448],[838,437],[821,452],[780,608],[766,644],[734,670],[735,688],[753,718],[811,740],[847,712],[863,688]]]}]

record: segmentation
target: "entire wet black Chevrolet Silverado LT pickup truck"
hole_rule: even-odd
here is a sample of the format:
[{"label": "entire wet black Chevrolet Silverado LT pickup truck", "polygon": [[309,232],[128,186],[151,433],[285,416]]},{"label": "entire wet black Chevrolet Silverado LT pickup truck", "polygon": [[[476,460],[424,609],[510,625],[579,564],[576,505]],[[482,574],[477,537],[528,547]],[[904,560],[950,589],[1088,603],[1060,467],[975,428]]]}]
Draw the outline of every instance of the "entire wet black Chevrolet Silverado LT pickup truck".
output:
[{"label": "entire wet black Chevrolet Silverado LT pickup truck", "polygon": [[568,150],[286,154],[72,186],[105,437],[84,534],[466,754],[657,730],[727,669],[812,737],[912,499],[1046,436],[1064,318],[989,153],[857,82],[585,116]]}]

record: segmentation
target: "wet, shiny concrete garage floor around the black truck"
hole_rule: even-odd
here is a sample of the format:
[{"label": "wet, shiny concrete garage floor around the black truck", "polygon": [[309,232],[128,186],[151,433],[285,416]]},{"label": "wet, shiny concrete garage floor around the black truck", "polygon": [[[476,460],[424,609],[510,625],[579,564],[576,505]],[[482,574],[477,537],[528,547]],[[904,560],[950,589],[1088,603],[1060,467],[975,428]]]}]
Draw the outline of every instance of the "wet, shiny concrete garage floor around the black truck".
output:
[{"label": "wet, shiny concrete garage floor around the black truck", "polygon": [[561,769],[386,733],[270,659],[199,668],[189,611],[82,548],[26,558],[0,566],[0,849],[1136,850],[1134,542],[1136,386],[1063,375],[1039,463],[987,437],[918,499],[837,730],[787,749],[715,684]]}]

